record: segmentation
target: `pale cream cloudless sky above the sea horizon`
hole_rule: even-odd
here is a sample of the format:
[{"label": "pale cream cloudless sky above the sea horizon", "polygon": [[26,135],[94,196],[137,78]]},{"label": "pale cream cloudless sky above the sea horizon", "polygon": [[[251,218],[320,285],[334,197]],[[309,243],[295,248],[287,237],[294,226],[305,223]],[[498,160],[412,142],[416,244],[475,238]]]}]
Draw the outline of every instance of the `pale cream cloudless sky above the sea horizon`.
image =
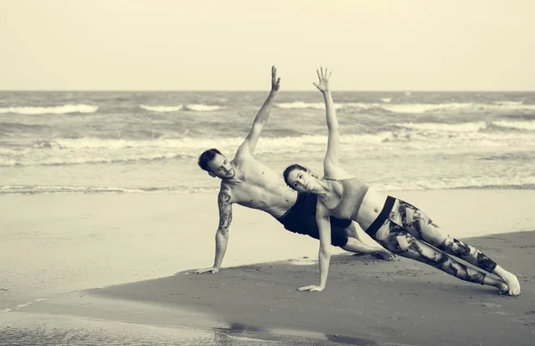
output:
[{"label": "pale cream cloudless sky above the sea horizon", "polygon": [[0,90],[535,90],[531,0],[0,0]]}]

